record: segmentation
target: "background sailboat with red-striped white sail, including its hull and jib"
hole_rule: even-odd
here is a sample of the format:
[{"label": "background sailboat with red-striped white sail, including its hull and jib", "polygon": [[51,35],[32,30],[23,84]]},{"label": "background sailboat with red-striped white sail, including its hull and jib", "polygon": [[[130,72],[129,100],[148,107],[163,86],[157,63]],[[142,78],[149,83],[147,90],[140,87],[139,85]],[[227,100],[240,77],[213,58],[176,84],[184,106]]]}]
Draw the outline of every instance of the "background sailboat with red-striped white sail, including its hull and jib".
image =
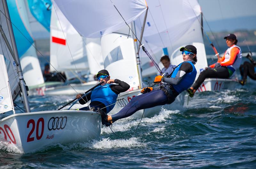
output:
[{"label": "background sailboat with red-striped white sail, including its hull and jib", "polygon": [[[100,39],[81,37],[56,4],[52,7],[50,36],[51,71],[64,71],[72,87],[66,84],[46,88],[45,94],[75,95],[96,85],[94,75],[103,69]],[[82,78],[85,75],[86,80]],[[69,82],[74,78],[80,83]]]}]

